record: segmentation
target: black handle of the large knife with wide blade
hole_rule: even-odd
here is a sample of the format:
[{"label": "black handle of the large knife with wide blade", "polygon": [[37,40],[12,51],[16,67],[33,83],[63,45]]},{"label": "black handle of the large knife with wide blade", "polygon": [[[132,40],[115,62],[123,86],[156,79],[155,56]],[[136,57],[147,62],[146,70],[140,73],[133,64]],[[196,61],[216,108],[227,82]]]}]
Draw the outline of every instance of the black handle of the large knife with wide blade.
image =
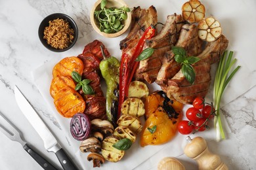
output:
[{"label": "black handle of the large knife with wide blade", "polygon": [[55,154],[64,170],[78,170],[62,148],[60,148],[60,150],[58,150]]}]

